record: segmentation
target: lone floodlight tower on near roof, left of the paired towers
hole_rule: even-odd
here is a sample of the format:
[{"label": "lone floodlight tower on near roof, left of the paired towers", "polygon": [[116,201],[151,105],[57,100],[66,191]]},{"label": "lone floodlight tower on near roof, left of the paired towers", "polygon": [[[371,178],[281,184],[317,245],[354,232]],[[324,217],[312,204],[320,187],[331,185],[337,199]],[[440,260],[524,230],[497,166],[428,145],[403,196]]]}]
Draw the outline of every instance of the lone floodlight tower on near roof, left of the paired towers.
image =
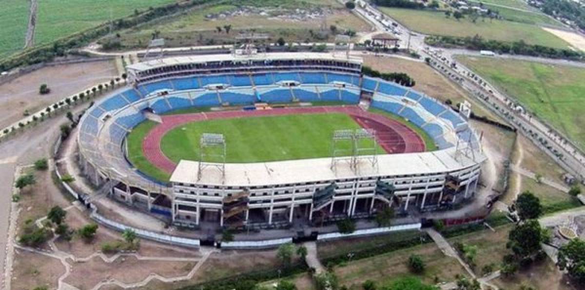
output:
[{"label": "lone floodlight tower on near roof, left of the paired towers", "polygon": [[197,180],[201,180],[205,168],[213,167],[221,173],[222,183],[225,182],[226,145],[223,134],[204,133],[199,139],[199,166]]}]

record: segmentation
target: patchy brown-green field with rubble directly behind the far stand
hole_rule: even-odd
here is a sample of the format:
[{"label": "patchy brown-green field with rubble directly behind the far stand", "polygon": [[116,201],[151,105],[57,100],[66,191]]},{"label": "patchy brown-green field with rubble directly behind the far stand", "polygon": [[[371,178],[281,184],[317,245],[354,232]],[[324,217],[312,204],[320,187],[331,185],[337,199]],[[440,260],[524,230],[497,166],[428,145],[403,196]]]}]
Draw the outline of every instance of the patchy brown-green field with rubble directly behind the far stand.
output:
[{"label": "patchy brown-green field with rubble directly behind the far stand", "polygon": [[[309,2],[305,1],[287,2],[274,0],[259,2],[248,0],[237,3],[237,5],[278,5],[284,9],[297,2],[300,8],[325,6],[332,9],[333,13],[326,18],[327,33],[329,33],[329,27],[331,25],[335,25],[340,31],[344,29],[352,29],[355,31],[370,29],[370,26],[362,19],[357,18],[346,9],[339,9],[335,5],[335,1],[319,0],[309,4]],[[139,29],[126,30],[120,33],[121,37],[119,40],[121,40],[124,47],[142,47],[152,38],[153,32],[159,32],[159,36],[166,39],[168,46],[221,44],[233,41],[235,35],[241,30],[255,29],[256,32],[269,33],[272,41],[278,37],[283,37],[287,41],[304,41],[306,39],[313,41],[316,39],[314,39],[314,34],[311,32],[317,33],[322,24],[321,19],[309,19],[307,21],[278,19],[271,17],[270,13],[266,16],[252,13],[250,15],[228,16],[217,19],[206,18],[207,15],[232,12],[236,11],[236,9],[238,9],[236,5],[223,4],[193,10],[178,17],[162,19],[149,25],[141,26]],[[225,30],[221,33],[216,31],[217,27],[223,28],[225,25],[231,25],[229,34]],[[332,33],[329,33],[327,37],[333,37]]]}]

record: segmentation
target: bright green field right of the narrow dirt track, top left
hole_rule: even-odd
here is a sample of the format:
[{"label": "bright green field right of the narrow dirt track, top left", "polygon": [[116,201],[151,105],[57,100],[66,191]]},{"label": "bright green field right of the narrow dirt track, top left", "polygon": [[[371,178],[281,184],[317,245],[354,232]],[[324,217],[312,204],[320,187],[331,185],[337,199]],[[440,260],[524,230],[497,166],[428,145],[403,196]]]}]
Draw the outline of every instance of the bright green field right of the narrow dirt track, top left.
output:
[{"label": "bright green field right of the narrow dirt track, top left", "polygon": [[[26,3],[26,1],[23,1]],[[39,0],[35,43],[46,43],[122,16],[176,0]]]}]

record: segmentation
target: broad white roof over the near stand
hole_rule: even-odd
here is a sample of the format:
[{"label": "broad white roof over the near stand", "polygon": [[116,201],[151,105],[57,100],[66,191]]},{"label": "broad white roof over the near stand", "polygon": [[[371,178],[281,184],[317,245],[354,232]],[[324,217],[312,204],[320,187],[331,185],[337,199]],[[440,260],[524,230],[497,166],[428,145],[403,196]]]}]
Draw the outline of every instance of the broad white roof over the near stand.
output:
[{"label": "broad white roof over the near stand", "polygon": [[485,157],[478,154],[476,161],[462,156],[459,161],[453,158],[455,148],[441,151],[378,155],[378,169],[363,161],[359,174],[349,168],[349,163],[338,163],[337,172],[330,169],[331,158],[303,159],[292,161],[261,163],[226,163],[225,183],[219,170],[204,169],[201,180],[197,180],[197,161],[181,160],[171,176],[171,182],[224,185],[224,186],[263,186],[299,182],[317,182],[357,178],[366,176],[395,176],[424,173],[443,173],[466,168]]}]

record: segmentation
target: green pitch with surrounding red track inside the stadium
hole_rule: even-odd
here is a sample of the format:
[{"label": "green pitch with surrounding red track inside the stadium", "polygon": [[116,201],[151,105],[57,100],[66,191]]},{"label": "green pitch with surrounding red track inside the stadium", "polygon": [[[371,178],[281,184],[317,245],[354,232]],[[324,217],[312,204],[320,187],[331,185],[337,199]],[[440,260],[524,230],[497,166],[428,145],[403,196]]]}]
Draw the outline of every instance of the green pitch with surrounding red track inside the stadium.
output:
[{"label": "green pitch with surrounding red track inside the stadium", "polygon": [[199,159],[202,132],[225,134],[226,162],[242,163],[329,157],[333,131],[360,127],[376,129],[378,153],[425,150],[423,140],[427,138],[420,137],[420,132],[398,120],[349,106],[167,115],[163,124],[145,122],[136,127],[128,137],[128,151],[139,170],[167,180],[181,159]]}]

